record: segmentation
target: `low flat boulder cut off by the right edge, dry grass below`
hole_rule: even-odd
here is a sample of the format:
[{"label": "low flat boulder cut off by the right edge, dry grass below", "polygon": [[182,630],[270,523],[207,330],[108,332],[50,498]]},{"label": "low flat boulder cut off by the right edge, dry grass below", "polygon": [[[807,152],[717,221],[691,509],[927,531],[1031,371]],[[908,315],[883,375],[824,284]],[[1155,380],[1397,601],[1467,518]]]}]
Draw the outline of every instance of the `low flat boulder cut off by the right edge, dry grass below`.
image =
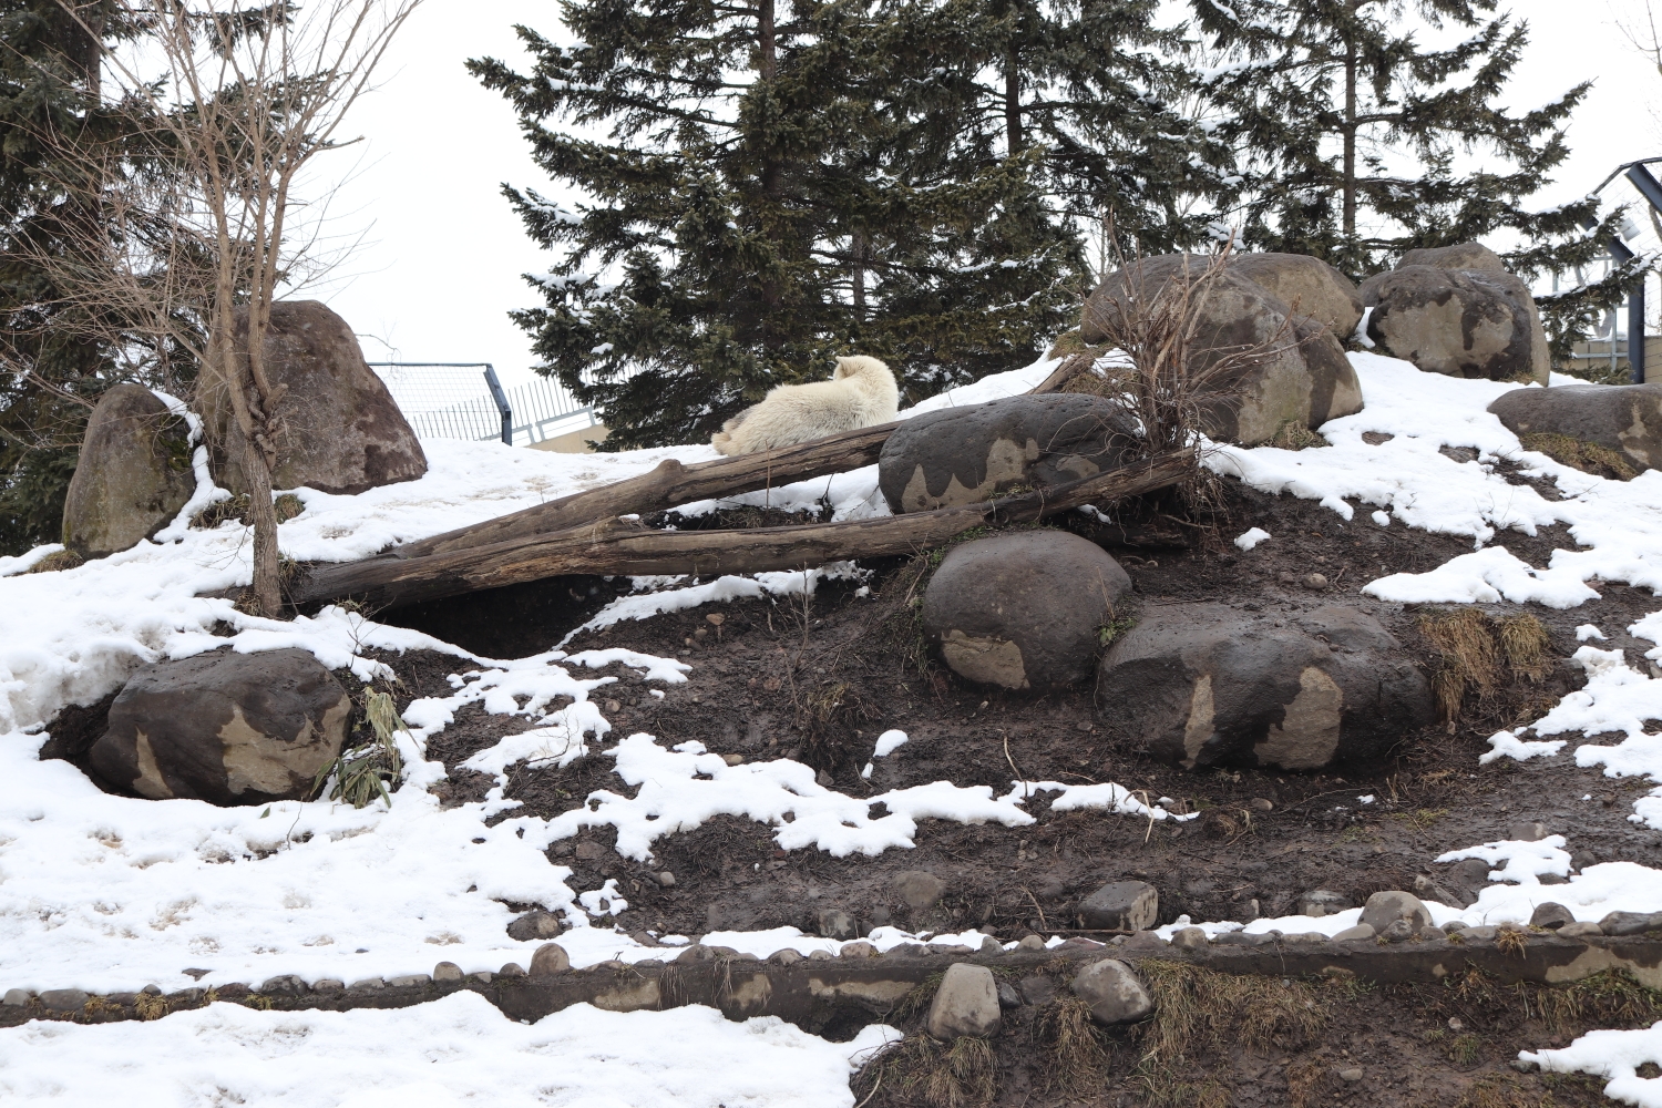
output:
[{"label": "low flat boulder cut off by the right edge, dry grass below", "polygon": [[1569,435],[1622,453],[1637,470],[1662,467],[1662,384],[1512,389],[1489,412],[1517,435]]}]

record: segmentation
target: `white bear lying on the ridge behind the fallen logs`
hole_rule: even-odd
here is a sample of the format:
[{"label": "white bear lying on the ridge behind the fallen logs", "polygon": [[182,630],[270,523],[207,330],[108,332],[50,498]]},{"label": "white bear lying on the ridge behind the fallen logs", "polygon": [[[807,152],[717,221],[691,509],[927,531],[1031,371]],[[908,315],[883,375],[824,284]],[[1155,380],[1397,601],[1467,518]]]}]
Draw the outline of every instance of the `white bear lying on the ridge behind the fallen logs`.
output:
[{"label": "white bear lying on the ridge behind the fallen logs", "polygon": [[894,419],[901,390],[874,357],[839,357],[831,380],[778,385],[710,437],[720,453],[755,453]]}]

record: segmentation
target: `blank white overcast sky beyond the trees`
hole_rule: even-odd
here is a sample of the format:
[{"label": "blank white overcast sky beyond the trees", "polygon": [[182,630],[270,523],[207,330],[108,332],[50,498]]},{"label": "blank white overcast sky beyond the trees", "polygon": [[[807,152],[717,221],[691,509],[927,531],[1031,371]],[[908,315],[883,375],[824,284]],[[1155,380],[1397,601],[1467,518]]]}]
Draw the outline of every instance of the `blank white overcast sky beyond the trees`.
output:
[{"label": "blank white overcast sky beyond the trees", "polygon": [[[1642,0],[1514,0],[1531,45],[1509,100],[1541,105],[1581,80],[1594,91],[1569,136],[1574,154],[1542,208],[1594,188],[1617,163],[1662,154],[1662,75],[1620,35]],[[552,191],[530,161],[514,113],[462,68],[470,56],[524,60],[512,23],[562,37],[558,8],[527,0],[427,0],[411,18],[347,130],[357,153],[326,171],[351,179],[331,206],[334,234],[362,244],[314,292],[362,336],[371,360],[494,362],[504,384],[530,379],[529,337],[507,317],[538,297],[520,279],[547,257],[499,186]]]}]

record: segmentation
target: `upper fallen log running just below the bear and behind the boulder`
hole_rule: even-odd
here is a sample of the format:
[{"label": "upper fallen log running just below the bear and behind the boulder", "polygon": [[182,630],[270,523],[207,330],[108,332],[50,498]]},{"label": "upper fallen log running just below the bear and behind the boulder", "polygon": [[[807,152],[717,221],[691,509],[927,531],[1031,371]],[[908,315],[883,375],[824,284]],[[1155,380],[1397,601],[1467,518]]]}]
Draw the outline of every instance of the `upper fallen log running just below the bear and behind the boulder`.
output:
[{"label": "upper fallen log running just below the bear and behind the boulder", "polygon": [[[1032,392],[1055,392],[1074,374],[1089,365],[1089,355],[1075,354],[1065,359]],[[460,527],[444,535],[404,543],[381,556],[407,560],[449,553],[452,550],[494,547],[514,538],[563,532],[615,515],[647,515],[648,512],[663,512],[676,505],[696,503],[698,500],[736,497],[745,492],[756,492],[758,488],[789,485],[791,482],[811,480],[828,473],[844,473],[876,462],[883,444],[888,442],[889,434],[896,427],[899,427],[897,422],[861,427],[794,447],[761,450],[736,458],[716,458],[715,462],[695,462],[693,465],[665,458],[648,473],[560,497],[535,508],[500,515],[484,523]]]}]

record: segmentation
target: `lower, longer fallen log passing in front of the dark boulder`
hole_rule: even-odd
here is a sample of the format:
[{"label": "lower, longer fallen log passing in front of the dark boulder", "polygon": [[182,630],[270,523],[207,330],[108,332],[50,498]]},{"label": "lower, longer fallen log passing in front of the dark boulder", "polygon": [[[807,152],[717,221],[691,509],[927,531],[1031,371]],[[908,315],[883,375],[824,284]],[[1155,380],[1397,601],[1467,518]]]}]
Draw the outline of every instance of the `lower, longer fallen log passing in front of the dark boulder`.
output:
[{"label": "lower, longer fallen log passing in front of the dark boulder", "polygon": [[296,583],[293,598],[297,606],[351,596],[372,608],[391,608],[570,573],[716,576],[806,570],[828,561],[914,553],[984,523],[1032,522],[1085,503],[1107,503],[1167,488],[1183,480],[1193,465],[1193,450],[1173,450],[1042,492],[843,523],[656,532],[613,517],[550,535],[424,558],[371,558],[312,566]]}]

